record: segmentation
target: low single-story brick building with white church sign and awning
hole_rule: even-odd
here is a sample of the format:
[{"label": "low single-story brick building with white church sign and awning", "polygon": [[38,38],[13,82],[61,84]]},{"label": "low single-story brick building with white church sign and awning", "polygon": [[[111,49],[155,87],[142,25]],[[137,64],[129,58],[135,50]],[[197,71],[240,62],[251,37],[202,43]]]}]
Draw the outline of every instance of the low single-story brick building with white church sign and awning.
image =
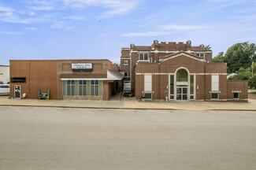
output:
[{"label": "low single-story brick building with white church sign and awning", "polygon": [[109,100],[121,90],[123,76],[109,60],[11,60],[10,97]]}]

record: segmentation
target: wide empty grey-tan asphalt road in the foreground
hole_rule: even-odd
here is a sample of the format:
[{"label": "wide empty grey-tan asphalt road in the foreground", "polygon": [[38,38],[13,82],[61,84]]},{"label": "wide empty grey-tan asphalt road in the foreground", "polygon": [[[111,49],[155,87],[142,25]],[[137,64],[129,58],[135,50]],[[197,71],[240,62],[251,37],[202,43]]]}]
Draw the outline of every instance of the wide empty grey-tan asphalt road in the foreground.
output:
[{"label": "wide empty grey-tan asphalt road in the foreground", "polygon": [[0,169],[256,169],[255,112],[0,107]]}]

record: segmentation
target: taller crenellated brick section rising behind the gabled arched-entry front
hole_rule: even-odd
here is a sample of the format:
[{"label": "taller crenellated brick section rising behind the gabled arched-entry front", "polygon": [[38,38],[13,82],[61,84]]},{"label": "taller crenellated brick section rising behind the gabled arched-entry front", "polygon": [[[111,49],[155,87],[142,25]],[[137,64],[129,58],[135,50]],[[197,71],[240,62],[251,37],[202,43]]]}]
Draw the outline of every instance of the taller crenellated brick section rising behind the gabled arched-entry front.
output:
[{"label": "taller crenellated brick section rising behind the gabled arched-entry front", "polygon": [[[204,60],[212,61],[212,50],[205,50],[203,45],[191,46],[191,41],[184,42],[161,42],[154,40],[151,46],[135,46],[131,44],[130,48],[121,50],[121,72],[125,72],[124,86],[131,82],[131,88],[135,87],[135,65],[139,62],[158,62],[161,57],[169,54],[176,54],[179,51],[185,51],[189,54],[195,54]],[[143,55],[143,56],[142,56]],[[139,58],[141,56],[141,58]],[[146,56],[146,58],[145,58]],[[141,60],[143,59],[143,60]],[[146,60],[145,60],[146,59]],[[126,84],[125,84],[126,83]]]}]

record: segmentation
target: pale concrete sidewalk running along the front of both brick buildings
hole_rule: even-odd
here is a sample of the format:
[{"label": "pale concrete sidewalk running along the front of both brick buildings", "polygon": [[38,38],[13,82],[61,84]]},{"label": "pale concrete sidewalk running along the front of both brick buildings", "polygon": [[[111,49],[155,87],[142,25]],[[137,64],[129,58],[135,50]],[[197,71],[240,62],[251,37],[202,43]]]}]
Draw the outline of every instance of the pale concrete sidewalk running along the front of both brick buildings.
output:
[{"label": "pale concrete sidewalk running along the front of both brick buildings", "polygon": [[0,97],[0,106],[37,106],[84,109],[175,109],[175,110],[247,110],[256,111],[256,100],[249,102],[141,102],[131,98],[123,101],[92,101],[92,100],[37,100],[8,99]]}]

